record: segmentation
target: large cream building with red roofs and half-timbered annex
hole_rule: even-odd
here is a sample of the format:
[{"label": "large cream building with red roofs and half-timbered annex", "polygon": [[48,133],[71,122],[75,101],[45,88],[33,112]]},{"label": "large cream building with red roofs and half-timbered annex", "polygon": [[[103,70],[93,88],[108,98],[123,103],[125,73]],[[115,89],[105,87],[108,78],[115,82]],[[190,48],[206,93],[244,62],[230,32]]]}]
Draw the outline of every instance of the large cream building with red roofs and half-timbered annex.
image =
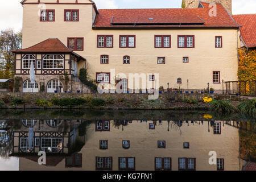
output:
[{"label": "large cream building with red roofs and half-timbered annex", "polygon": [[[196,9],[98,10],[89,0],[23,0],[22,5],[23,49],[14,51],[22,92],[82,90],[77,73],[84,67],[104,88],[115,89],[122,80],[124,93],[168,84],[203,90],[208,83],[218,92],[222,80],[237,80],[240,25],[221,3],[216,16],[209,15],[207,2]],[[64,73],[68,84],[60,79]],[[138,80],[141,76],[138,85],[135,73]]]}]

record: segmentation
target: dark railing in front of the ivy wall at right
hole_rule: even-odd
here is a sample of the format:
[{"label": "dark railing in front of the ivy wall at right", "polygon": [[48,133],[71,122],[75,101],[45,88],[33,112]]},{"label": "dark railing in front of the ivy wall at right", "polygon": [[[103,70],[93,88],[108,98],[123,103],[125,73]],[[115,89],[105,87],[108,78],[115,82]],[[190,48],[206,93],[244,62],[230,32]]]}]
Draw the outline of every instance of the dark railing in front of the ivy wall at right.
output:
[{"label": "dark railing in front of the ivy wall at right", "polygon": [[253,81],[225,81],[225,94],[256,97],[256,80]]}]

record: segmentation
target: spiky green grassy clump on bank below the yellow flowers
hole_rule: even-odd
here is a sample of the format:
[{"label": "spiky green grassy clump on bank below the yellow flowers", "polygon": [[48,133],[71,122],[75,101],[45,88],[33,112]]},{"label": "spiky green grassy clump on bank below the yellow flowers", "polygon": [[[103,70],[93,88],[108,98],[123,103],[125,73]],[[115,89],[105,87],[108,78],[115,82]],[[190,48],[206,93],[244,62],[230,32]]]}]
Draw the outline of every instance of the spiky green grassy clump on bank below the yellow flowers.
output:
[{"label": "spiky green grassy clump on bank below the yellow flowers", "polygon": [[213,100],[210,102],[210,105],[210,110],[219,114],[234,113],[238,111],[237,107],[233,106],[229,100]]}]

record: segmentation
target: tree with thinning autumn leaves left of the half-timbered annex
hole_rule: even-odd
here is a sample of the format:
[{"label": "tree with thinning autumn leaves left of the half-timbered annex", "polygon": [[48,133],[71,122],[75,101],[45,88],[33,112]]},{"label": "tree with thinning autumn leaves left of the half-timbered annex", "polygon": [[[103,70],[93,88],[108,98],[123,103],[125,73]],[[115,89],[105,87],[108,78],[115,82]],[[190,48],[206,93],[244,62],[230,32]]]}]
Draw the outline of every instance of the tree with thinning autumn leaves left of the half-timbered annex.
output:
[{"label": "tree with thinning autumn leaves left of the half-timbered annex", "polygon": [[12,29],[0,33],[0,78],[14,77],[15,55],[13,50],[22,48],[22,31]]}]

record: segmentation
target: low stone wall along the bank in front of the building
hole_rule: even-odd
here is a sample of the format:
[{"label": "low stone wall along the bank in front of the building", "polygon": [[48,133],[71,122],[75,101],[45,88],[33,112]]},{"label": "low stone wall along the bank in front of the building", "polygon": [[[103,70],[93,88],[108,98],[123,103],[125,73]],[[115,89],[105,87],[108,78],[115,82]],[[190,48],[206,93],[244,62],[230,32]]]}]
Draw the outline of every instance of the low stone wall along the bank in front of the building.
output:
[{"label": "low stone wall along the bank in front of the building", "polygon": [[[52,97],[58,97],[58,98],[65,98],[65,97],[82,97],[86,95],[91,95],[93,98],[102,98],[106,100],[106,98],[111,97],[114,100],[118,101],[119,98],[125,98],[128,102],[137,102],[141,100],[147,100],[149,94],[139,94],[139,93],[133,93],[133,94],[100,94],[100,93],[0,93],[0,98],[4,96],[12,96],[12,97],[18,97],[18,98],[24,98],[24,99],[30,99],[32,100],[51,100]],[[229,95],[222,95],[222,94],[167,94],[162,93],[159,94],[159,100],[162,101],[183,101],[184,98],[193,98],[199,101],[203,101],[204,97],[210,97],[210,98],[218,98],[221,100],[234,100],[234,101],[241,101],[241,100],[247,100],[250,99],[250,97],[246,96],[229,96]],[[253,98],[253,97],[251,97]],[[255,97],[254,97],[255,98]]]}]

